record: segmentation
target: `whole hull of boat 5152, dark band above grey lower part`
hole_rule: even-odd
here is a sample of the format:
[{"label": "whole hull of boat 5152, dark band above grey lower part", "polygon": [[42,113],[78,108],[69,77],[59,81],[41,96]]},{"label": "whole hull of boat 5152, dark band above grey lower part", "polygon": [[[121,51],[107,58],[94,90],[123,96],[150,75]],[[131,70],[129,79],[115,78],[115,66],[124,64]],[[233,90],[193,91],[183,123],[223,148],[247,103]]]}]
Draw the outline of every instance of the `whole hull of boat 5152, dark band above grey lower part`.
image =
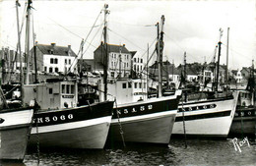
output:
[{"label": "whole hull of boat 5152, dark band above grey lower part", "polygon": [[114,108],[108,142],[169,143],[180,96],[121,104]]}]

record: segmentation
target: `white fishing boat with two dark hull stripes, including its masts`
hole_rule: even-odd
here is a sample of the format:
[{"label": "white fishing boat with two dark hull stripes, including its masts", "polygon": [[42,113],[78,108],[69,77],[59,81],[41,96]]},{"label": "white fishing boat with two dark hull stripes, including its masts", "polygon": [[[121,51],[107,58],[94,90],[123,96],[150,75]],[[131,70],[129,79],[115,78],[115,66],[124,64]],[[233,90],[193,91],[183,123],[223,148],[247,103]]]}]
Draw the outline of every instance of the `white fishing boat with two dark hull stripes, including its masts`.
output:
[{"label": "white fishing boat with two dark hull stripes, including its masts", "polygon": [[[221,36],[222,36],[222,29]],[[219,66],[221,45],[219,41],[219,59],[217,64],[216,86],[214,91],[184,91],[178,106],[178,113],[173,127],[173,137],[183,136],[199,138],[226,138],[235,113],[238,98],[237,91],[219,90]],[[186,58],[184,58],[184,68]],[[184,69],[186,72],[186,69]],[[186,77],[186,74],[184,74]],[[185,78],[186,79],[186,78]],[[186,83],[184,85],[186,87]]]}]

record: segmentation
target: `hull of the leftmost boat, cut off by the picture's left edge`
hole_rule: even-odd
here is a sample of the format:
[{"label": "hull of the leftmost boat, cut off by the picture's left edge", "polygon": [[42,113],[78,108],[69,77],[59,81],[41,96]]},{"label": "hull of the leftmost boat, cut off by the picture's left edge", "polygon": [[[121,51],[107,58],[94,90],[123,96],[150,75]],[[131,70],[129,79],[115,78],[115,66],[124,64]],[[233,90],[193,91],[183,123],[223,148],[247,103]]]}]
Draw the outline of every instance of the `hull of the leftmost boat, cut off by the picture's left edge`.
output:
[{"label": "hull of the leftmost boat, cut off by the picture's left edge", "polygon": [[23,160],[32,129],[33,109],[0,113],[0,159]]}]

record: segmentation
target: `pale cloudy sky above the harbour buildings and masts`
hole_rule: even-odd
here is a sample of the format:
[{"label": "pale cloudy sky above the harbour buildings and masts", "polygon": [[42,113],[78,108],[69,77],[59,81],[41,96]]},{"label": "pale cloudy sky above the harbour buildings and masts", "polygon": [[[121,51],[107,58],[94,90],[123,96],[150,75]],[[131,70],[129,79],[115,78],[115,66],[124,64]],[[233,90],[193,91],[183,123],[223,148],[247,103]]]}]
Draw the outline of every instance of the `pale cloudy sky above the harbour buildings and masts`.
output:
[{"label": "pale cloudy sky above the harbour buildings and masts", "polygon": [[[24,23],[26,1],[20,0],[20,25]],[[227,28],[228,68],[249,67],[256,61],[255,0],[169,0],[169,1],[32,1],[31,25],[39,44],[52,42],[59,46],[71,45],[79,52],[82,39],[86,39],[84,59],[94,57],[102,38],[104,4],[110,11],[107,16],[108,43],[125,44],[136,57],[156,60],[157,27],[164,15],[163,60],[183,64],[210,63],[218,42],[222,41],[221,64],[226,63]],[[99,15],[97,21],[96,18]],[[95,28],[92,28],[95,25]],[[223,29],[221,37],[220,28]],[[92,31],[91,31],[92,30]],[[90,32],[91,31],[91,32]],[[90,34],[90,35],[89,35]],[[25,50],[22,30],[22,49]],[[31,34],[32,36],[32,34]],[[0,46],[16,49],[17,17],[15,1],[0,2]],[[32,40],[32,39],[31,39]],[[32,45],[32,44],[31,44]],[[81,55],[80,55],[81,56]]]}]

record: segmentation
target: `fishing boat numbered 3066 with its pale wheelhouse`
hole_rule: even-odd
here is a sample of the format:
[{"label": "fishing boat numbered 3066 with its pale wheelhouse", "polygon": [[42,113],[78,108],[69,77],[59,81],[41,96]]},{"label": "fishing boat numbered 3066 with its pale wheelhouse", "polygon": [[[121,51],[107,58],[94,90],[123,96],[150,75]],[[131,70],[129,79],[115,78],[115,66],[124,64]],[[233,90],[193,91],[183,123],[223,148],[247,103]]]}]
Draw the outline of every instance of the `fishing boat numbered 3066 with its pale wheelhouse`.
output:
[{"label": "fishing boat numbered 3066 with its pale wheelhouse", "polygon": [[35,98],[30,145],[103,148],[112,118],[113,101],[77,106],[77,83],[51,81],[25,85],[25,101]]}]

